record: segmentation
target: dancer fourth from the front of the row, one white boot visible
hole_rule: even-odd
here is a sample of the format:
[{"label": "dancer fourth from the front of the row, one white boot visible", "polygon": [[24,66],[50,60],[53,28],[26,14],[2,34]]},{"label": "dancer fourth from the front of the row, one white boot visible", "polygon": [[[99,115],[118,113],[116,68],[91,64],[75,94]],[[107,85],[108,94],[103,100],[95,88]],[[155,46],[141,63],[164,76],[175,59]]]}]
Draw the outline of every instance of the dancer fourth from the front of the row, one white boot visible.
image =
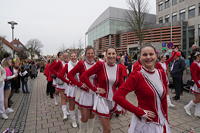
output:
[{"label": "dancer fourth from the front of the row, one white boot visible", "polygon": [[70,113],[70,118],[72,120],[72,127],[78,126],[76,123],[76,115],[75,115],[76,87],[72,83],[70,83],[70,81],[67,79],[67,74],[72,68],[74,68],[76,64],[77,64],[77,55],[76,53],[71,53],[70,61],[65,65],[64,69],[58,75],[58,77],[65,82],[65,88],[66,88],[65,95],[69,101],[69,113]]}]

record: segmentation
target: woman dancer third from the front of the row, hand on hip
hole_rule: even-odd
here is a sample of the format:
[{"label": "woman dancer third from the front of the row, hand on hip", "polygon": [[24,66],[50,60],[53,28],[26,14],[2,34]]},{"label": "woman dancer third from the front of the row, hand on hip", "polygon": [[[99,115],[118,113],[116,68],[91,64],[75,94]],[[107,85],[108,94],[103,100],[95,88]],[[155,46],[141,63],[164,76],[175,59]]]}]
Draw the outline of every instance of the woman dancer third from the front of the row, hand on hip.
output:
[{"label": "woman dancer third from the front of the row, hand on hip", "polygon": [[[94,48],[88,46],[85,50],[85,60],[81,60],[77,65],[68,73],[67,77],[72,82],[72,84],[79,87],[82,91],[80,93],[80,98],[77,99],[77,104],[79,105],[81,112],[80,120],[80,130],[79,133],[92,133],[94,126],[94,114],[92,114],[92,108],[94,105],[94,93],[92,91],[87,91],[86,85],[78,81],[75,77],[76,74],[79,74],[79,77],[91,68],[95,64],[95,53]],[[90,81],[94,82],[95,76],[90,77]],[[87,125],[88,124],[88,125]]]}]

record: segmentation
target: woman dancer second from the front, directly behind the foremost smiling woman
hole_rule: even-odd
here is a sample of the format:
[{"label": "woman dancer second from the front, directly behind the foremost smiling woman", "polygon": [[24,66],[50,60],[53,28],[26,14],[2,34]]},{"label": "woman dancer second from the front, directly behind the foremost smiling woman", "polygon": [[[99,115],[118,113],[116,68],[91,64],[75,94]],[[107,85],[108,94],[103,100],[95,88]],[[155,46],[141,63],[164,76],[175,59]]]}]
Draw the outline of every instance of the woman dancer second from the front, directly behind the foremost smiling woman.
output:
[{"label": "woman dancer second from the front, directly behind the foremost smiling woman", "polygon": [[[110,116],[117,110],[117,105],[113,101],[113,95],[117,88],[123,83],[123,68],[116,64],[116,49],[106,50],[106,62],[98,61],[93,67],[81,75],[81,81],[89,89],[96,92],[93,111],[98,114],[103,127],[103,133],[110,133]],[[96,83],[92,83],[89,77],[96,75]]]}]

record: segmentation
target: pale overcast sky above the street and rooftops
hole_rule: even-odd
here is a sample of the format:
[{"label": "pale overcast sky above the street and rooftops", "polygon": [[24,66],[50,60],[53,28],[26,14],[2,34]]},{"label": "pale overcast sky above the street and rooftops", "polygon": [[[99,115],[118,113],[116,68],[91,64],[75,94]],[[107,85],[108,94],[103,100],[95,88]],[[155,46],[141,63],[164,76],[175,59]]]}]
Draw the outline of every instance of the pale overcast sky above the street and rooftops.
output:
[{"label": "pale overcast sky above the street and rooftops", "polygon": [[[156,0],[148,0],[150,13],[156,12]],[[8,21],[16,21],[15,38],[23,44],[37,38],[43,54],[55,54],[63,47],[84,42],[85,33],[109,6],[127,8],[126,0],[1,0],[0,36],[11,41]]]}]

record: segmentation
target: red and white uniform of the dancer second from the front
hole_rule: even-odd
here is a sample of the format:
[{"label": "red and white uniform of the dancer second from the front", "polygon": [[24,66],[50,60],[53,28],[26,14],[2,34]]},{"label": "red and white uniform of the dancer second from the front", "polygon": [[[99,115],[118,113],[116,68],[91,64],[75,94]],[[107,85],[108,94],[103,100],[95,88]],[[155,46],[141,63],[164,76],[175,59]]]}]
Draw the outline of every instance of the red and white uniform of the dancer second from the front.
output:
[{"label": "red and white uniform of the dancer second from the front", "polygon": [[[110,114],[117,110],[117,105],[113,101],[113,95],[117,88],[124,82],[123,68],[120,65],[109,66],[106,62],[98,61],[93,67],[83,73],[81,81],[92,91],[97,88],[105,89],[106,93],[97,94],[94,100],[93,112],[100,116],[110,117]],[[91,83],[89,78],[96,75],[96,83]],[[121,109],[122,110],[122,109]]]}]

